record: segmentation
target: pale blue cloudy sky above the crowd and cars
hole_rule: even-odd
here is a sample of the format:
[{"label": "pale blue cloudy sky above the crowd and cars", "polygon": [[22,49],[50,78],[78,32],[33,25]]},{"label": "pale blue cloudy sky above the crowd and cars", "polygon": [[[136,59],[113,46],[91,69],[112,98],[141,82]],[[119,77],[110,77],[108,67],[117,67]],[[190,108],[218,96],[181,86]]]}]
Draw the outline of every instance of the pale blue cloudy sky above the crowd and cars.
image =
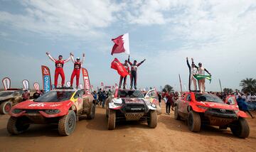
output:
[{"label": "pale blue cloudy sky above the crowd and cars", "polygon": [[[255,27],[256,2],[250,0],[0,0],[0,79],[10,77],[12,87],[22,87],[24,79],[30,87],[41,85],[41,65],[54,73],[46,52],[55,58],[73,52],[85,53],[92,85],[114,85],[119,75],[110,63],[127,55],[110,55],[111,39],[129,33],[131,59],[146,58],[138,87],[178,89],[178,74],[187,85],[188,56],[213,75],[208,90],[219,90],[218,79],[240,89],[240,80],[256,76]],[[68,81],[73,64],[64,69]]]}]

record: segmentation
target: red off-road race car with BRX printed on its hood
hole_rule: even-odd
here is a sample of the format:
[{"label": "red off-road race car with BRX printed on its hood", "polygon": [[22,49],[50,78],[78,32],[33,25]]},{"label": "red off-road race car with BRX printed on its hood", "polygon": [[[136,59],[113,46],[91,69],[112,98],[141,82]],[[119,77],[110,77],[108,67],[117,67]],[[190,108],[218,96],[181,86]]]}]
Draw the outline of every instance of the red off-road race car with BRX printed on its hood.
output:
[{"label": "red off-road race car with BRX printed on its hood", "polygon": [[38,97],[16,104],[9,112],[7,124],[10,134],[21,134],[30,124],[58,124],[61,136],[75,130],[79,116],[95,117],[95,100],[84,89],[56,88]]}]

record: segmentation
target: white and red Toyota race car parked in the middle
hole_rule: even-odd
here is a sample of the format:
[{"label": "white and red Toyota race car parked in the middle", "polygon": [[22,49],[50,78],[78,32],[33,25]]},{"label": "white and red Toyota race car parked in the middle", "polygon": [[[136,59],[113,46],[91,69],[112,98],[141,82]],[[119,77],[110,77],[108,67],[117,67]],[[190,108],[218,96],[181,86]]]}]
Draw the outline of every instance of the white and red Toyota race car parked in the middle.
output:
[{"label": "white and red Toyota race car parked in the middle", "polygon": [[115,128],[116,121],[147,121],[150,128],[157,126],[156,104],[144,99],[139,90],[116,89],[106,101],[107,129]]}]

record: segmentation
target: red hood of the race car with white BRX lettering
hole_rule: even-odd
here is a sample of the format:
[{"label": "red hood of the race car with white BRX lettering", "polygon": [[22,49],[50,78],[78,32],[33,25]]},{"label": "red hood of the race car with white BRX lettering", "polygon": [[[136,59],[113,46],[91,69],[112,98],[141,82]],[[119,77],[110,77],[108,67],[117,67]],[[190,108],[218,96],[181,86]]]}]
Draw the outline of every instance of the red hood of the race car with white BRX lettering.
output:
[{"label": "red hood of the race car with white BRX lettering", "polygon": [[28,100],[21,102],[14,106],[14,109],[60,109],[64,107],[70,107],[72,102],[67,100],[65,102],[33,102]]}]

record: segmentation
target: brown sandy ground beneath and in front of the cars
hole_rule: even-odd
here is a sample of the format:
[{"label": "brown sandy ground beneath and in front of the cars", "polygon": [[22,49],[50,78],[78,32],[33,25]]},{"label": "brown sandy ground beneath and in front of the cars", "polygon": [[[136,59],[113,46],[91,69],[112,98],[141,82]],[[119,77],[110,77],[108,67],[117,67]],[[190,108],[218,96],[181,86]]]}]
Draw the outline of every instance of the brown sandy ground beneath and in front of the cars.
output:
[{"label": "brown sandy ground beneath and in front of the cars", "polygon": [[6,131],[9,115],[1,115],[0,151],[256,151],[256,119],[247,119],[249,138],[238,139],[230,129],[212,126],[192,133],[185,121],[174,119],[174,112],[162,111],[156,129],[144,122],[125,122],[108,131],[105,109],[97,107],[95,119],[80,120],[75,132],[64,137],[54,125],[32,125],[25,133],[11,136]]}]

